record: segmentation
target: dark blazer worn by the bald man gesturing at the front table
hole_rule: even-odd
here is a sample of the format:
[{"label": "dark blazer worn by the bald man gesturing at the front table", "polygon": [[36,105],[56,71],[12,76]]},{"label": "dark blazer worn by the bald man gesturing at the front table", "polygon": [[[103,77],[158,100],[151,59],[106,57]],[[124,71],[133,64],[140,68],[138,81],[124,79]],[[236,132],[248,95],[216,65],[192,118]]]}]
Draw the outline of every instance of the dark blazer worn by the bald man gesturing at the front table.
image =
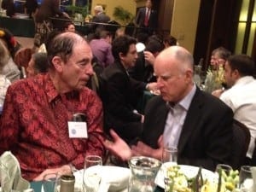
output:
[{"label": "dark blazer worn by the bald man gesturing at the front table", "polygon": [[[164,132],[168,107],[160,96],[148,102],[142,140],[157,148]],[[202,166],[214,171],[218,163],[230,164],[232,145],[232,110],[197,88],[184,120],[178,142],[178,164]]]}]

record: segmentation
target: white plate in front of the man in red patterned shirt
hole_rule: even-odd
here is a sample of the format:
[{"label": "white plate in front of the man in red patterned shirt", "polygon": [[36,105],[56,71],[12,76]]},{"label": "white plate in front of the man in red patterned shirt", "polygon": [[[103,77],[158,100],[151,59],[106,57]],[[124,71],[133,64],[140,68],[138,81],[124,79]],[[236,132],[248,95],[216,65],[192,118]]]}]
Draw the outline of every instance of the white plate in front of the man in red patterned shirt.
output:
[{"label": "white plate in front of the man in red patterned shirt", "polygon": [[[74,172],[76,177],[75,185],[83,184],[83,170]],[[108,191],[126,191],[129,183],[131,171],[128,168],[121,166],[90,166],[85,170],[86,175],[100,177],[101,182],[109,183]]]}]

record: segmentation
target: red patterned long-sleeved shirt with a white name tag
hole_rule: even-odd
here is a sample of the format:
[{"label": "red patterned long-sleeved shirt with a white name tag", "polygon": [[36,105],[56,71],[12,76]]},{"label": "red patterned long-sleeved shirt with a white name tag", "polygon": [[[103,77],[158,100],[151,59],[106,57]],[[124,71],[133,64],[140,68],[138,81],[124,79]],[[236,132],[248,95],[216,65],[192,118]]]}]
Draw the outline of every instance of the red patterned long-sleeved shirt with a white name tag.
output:
[{"label": "red patterned long-sleeved shirt with a white name tag", "polygon": [[[73,113],[86,116],[88,138],[69,138],[67,121]],[[104,155],[102,102],[96,93],[59,94],[49,74],[9,86],[0,121],[0,154],[10,150],[28,180],[47,168],[72,163],[84,166],[85,154]]]}]

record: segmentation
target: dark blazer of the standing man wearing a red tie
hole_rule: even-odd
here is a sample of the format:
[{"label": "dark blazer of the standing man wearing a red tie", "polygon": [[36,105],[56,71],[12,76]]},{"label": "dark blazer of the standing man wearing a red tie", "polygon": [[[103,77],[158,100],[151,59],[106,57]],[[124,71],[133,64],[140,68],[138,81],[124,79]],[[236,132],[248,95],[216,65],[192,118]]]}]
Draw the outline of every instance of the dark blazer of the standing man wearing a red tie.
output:
[{"label": "dark blazer of the standing man wearing a red tie", "polygon": [[146,17],[146,8],[139,9],[136,17],[137,26],[147,27],[147,28],[150,28],[152,31],[155,31],[158,23],[157,12],[154,9],[151,9],[149,20],[148,20],[148,26],[144,26],[145,17]]}]

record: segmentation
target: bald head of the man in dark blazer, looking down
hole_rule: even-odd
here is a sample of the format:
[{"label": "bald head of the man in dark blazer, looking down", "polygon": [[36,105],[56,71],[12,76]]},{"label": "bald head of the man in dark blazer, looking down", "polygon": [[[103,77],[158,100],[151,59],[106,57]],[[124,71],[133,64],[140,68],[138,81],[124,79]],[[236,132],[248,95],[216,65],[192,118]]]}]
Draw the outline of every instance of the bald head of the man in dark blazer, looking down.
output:
[{"label": "bald head of the man in dark blazer, looking down", "polygon": [[168,102],[180,102],[193,87],[193,56],[187,49],[172,46],[154,61],[154,73],[161,95]]}]

